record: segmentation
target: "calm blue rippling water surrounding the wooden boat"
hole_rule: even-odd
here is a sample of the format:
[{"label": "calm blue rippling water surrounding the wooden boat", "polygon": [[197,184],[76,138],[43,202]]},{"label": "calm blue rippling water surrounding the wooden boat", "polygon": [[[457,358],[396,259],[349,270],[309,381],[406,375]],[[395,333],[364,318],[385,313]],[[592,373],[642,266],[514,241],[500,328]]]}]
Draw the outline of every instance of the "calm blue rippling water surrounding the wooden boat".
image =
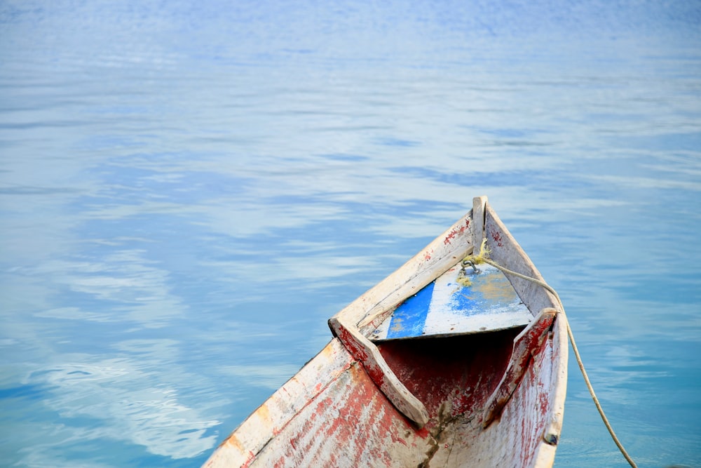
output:
[{"label": "calm blue rippling water surrounding the wooden boat", "polygon": [[198,466],[479,194],[700,467],[698,1],[0,0],[1,464]]}]

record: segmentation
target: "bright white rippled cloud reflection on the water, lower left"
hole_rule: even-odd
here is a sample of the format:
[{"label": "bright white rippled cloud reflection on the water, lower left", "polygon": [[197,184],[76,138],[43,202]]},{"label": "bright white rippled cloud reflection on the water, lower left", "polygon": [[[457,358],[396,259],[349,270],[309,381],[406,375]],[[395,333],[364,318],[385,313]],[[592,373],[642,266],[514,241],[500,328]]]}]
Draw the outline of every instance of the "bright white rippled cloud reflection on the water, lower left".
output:
[{"label": "bright white rippled cloud reflection on the water, lower left", "polygon": [[[43,404],[60,415],[64,427],[77,424],[74,429],[80,430],[82,419],[95,420],[92,430],[82,431],[84,441],[127,440],[172,458],[193,457],[214,446],[217,437],[207,429],[219,422],[182,403],[177,389],[165,383],[169,379],[158,378],[158,357],[149,366],[126,356],[83,359],[35,370],[27,383],[48,388]],[[168,361],[162,359],[163,365]],[[186,378],[179,376],[181,383]]]}]

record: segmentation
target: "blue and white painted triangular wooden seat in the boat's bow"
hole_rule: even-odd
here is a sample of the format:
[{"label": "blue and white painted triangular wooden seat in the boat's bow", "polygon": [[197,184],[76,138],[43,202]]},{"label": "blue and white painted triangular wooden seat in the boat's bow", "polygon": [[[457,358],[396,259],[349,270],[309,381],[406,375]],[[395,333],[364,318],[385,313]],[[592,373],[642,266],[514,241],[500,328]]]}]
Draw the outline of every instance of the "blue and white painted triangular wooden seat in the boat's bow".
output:
[{"label": "blue and white painted triangular wooden seat in the boat's bow", "polygon": [[368,338],[467,335],[526,326],[532,319],[499,269],[458,263],[404,300]]}]

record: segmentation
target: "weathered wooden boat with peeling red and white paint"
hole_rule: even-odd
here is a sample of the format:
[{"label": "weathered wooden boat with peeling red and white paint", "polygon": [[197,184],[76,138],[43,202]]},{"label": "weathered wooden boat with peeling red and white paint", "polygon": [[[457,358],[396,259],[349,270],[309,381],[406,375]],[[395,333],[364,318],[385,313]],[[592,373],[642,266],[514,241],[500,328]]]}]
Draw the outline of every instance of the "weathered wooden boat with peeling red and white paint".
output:
[{"label": "weathered wooden boat with peeling red and white paint", "polygon": [[[486,201],[329,320],[329,344],[205,467],[549,467],[567,338]],[[480,272],[477,272],[480,269]]]}]

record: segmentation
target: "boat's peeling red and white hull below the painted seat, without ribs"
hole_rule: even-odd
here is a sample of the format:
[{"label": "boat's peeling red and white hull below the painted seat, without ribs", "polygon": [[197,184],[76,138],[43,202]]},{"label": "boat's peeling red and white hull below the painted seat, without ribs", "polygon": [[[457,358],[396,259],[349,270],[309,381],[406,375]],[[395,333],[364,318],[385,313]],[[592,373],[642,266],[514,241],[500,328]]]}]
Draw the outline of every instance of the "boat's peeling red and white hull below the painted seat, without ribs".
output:
[{"label": "boat's peeling red and white hull below the painted seat, without ribs", "polygon": [[559,354],[562,321],[554,321],[498,420],[482,427],[486,400],[508,365],[517,331],[380,345],[390,367],[426,404],[430,421],[422,429],[334,338],[205,467],[551,466],[557,440],[545,438],[552,422],[562,420],[552,407],[553,383],[566,372],[566,356]]}]

